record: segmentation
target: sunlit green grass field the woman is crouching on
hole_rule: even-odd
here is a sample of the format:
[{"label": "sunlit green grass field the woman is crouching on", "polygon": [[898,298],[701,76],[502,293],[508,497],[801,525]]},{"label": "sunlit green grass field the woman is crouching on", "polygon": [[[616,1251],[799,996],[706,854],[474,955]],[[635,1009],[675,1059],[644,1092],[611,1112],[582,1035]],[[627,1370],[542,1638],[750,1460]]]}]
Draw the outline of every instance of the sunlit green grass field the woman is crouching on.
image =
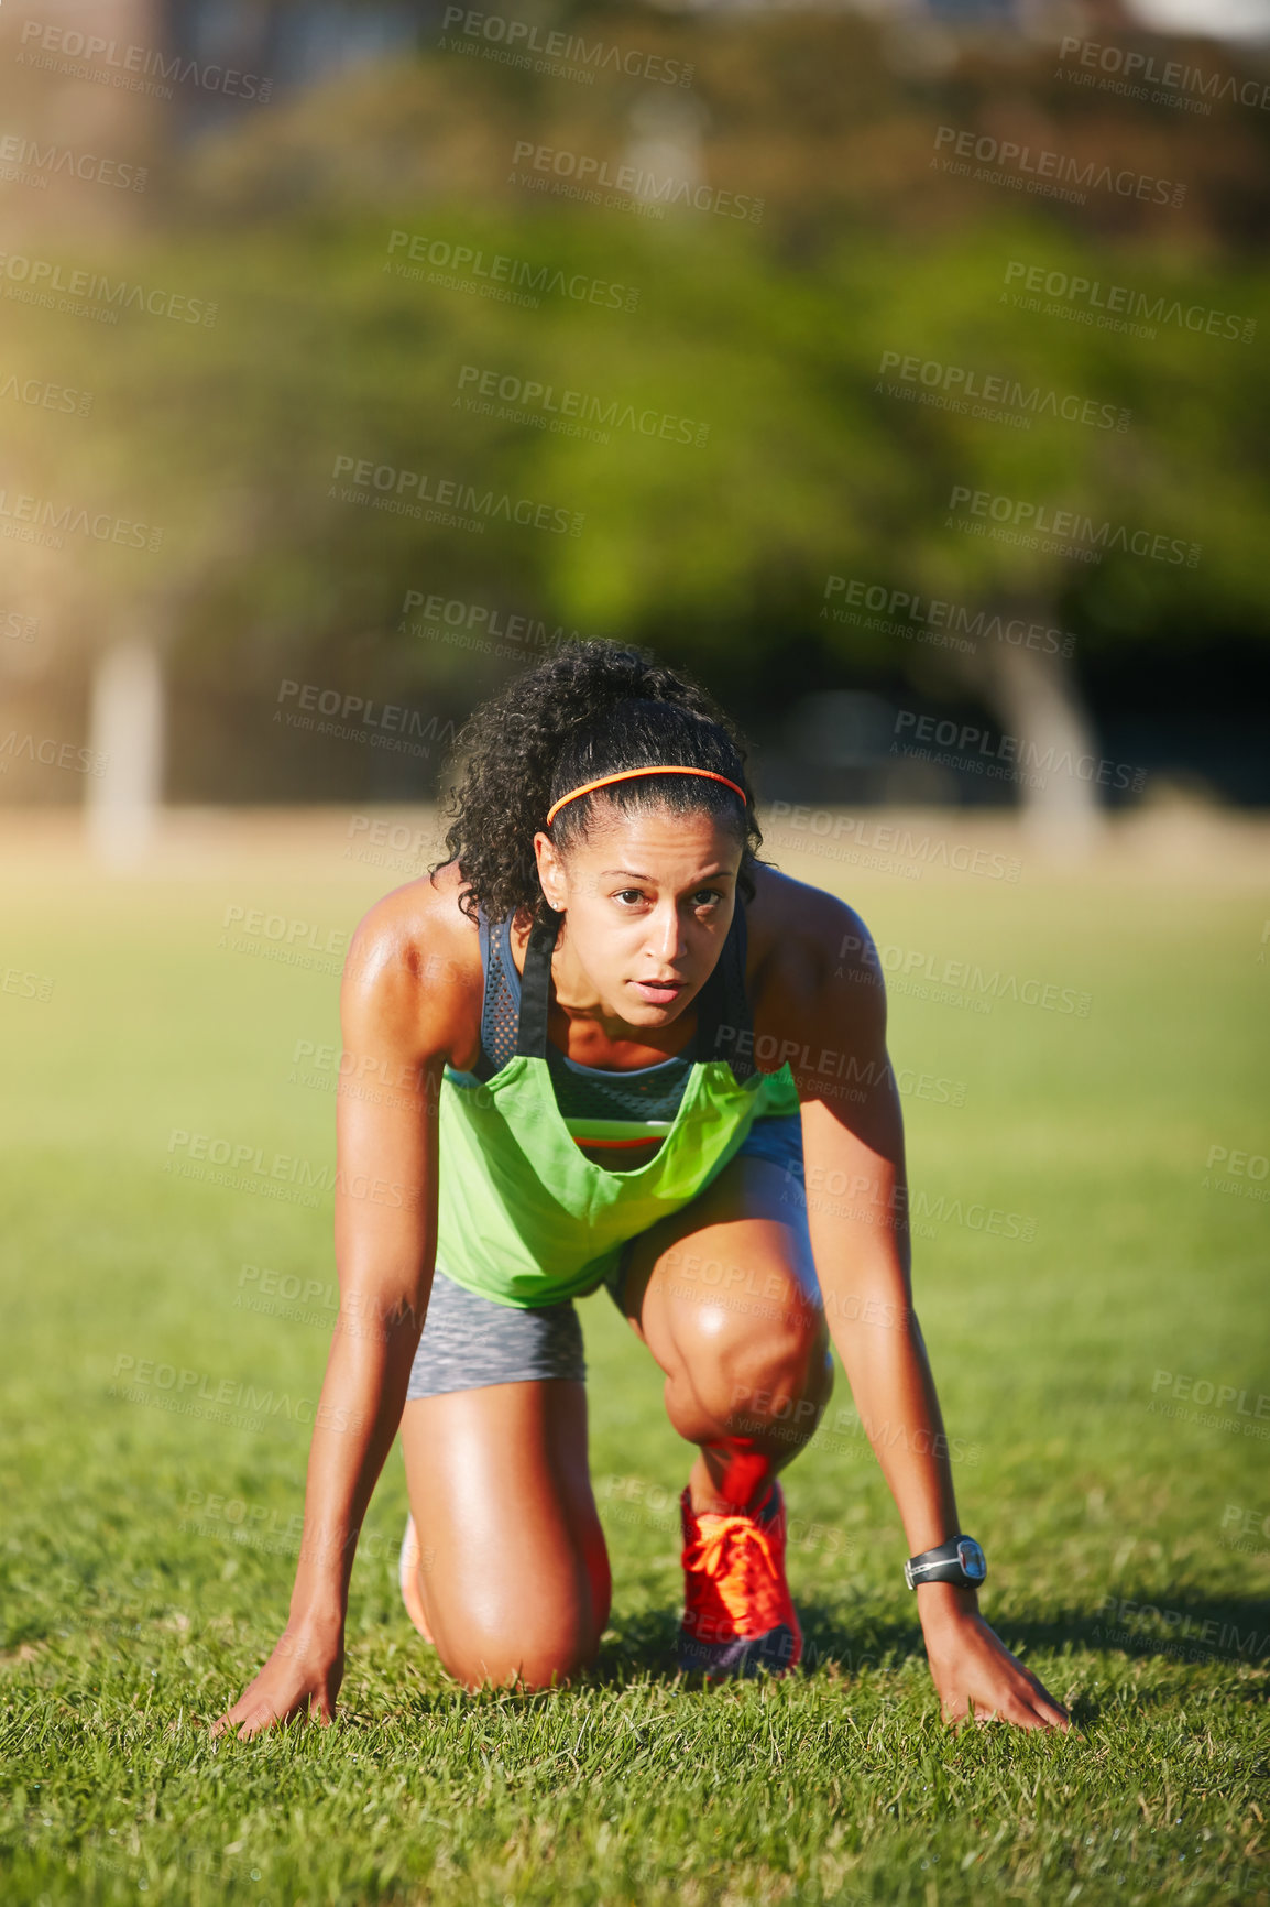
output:
[{"label": "sunlit green grass field the woman is crouching on", "polygon": [[[395,1451],[339,1726],[208,1739],[286,1613],[336,1274],[330,1194],[303,1203],[297,1167],[244,1167],[284,1196],[181,1177],[172,1135],[334,1163],[336,978],[217,944],[259,908],[322,946],[400,879],[345,860],[339,820],[318,835],[170,879],[0,868],[0,967],[40,982],[0,990],[4,1901],[1270,1899],[1270,904],[1236,862],[1026,860],[1014,885],[778,856],[892,967],[1001,974],[971,1003],[892,990],[896,1066],[963,1087],[906,1097],[915,1293],[984,1613],[1077,1730],[940,1724],[841,1373],[786,1472],[809,1672],[679,1684],[688,1451],[601,1293],[599,1671],[530,1699],[446,1682],[397,1596]],[[1030,980],[1087,1015],[1003,997]],[[1243,1169],[1211,1173],[1215,1146]]]}]

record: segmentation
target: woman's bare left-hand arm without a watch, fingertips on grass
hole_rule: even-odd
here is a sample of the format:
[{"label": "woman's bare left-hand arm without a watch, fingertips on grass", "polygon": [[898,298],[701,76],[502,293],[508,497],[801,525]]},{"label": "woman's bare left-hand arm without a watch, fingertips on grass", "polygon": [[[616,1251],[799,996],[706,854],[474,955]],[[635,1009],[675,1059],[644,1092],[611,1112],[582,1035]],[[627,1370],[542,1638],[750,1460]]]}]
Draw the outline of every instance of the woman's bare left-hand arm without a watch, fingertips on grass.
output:
[{"label": "woman's bare left-hand arm without a watch, fingertips on grass", "polygon": [[[461,961],[420,933],[399,891],[358,927],[339,994],[336,1266],[339,1318],[318,1400],[286,1629],[217,1718],[250,1739],[311,1711],[330,1722],[343,1676],[353,1552],[400,1425],[437,1251],[437,1106],[461,1011]],[[427,944],[427,950],[425,950]]]}]

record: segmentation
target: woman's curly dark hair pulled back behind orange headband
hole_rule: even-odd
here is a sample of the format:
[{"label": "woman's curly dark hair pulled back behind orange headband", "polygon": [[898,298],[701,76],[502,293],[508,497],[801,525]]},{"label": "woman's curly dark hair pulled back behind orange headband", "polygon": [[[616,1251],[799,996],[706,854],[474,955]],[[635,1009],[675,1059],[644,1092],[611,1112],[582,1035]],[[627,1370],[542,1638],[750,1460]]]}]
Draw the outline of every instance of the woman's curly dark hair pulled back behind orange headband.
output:
[{"label": "woman's curly dark hair pulled back behind orange headband", "polygon": [[[753,898],[751,870],[763,833],[746,774],[746,744],[713,696],[677,669],[614,643],[570,643],[524,669],[473,711],[456,742],[461,780],[446,814],[446,862],[463,877],[460,906],[475,919],[549,913],[538,883],[534,833],[543,828],[568,851],[597,812],[669,809],[713,814],[742,843],[738,889]],[[746,789],[746,805],[696,774],[658,774],[580,795],[545,828],[547,809],[570,788],[624,769],[711,769]],[[437,862],[429,871],[446,866]]]}]

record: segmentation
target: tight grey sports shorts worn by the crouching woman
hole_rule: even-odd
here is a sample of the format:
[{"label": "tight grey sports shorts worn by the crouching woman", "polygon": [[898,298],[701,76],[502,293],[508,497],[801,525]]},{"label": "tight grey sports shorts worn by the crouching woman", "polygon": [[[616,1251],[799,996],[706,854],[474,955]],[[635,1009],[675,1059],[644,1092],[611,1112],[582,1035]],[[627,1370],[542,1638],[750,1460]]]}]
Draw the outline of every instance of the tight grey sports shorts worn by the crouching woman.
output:
[{"label": "tight grey sports shorts worn by the crouching woman", "polygon": [[[755,1119],[738,1158],[770,1159],[772,1165],[803,1169],[803,1121],[799,1118]],[[793,1207],[797,1211],[797,1207]],[[622,1316],[629,1245],[604,1289]],[[484,1384],[522,1384],[542,1377],[568,1377],[585,1383],[582,1320],[572,1299],[538,1304],[532,1310],[496,1304],[433,1274],[423,1337],[410,1369],[406,1404],[439,1398],[450,1390],[481,1390]]]}]

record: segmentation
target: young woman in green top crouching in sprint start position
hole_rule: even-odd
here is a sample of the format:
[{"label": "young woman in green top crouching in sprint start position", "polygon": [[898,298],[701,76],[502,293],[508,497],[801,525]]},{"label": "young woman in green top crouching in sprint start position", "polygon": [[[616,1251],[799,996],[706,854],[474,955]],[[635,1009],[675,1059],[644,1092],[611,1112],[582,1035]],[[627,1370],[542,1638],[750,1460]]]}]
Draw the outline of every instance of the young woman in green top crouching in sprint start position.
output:
[{"label": "young woman in green top crouching in sprint start position", "polygon": [[[595,1659],[610,1579],[574,1299],[599,1285],[696,1447],[683,1669],[799,1661],[778,1472],[830,1398],[831,1339],[944,1714],[1066,1728],[978,1615],[862,921],[755,860],[732,725],[633,650],[528,669],[463,746],[450,860],[378,902],[349,952],[351,1076],[385,1091],[338,1108],[341,1312],[290,1621],[215,1730],[330,1722],[353,1548],[399,1430],[402,1594],[448,1672],[542,1688]],[[850,1203],[805,1196],[826,1182]]]}]

